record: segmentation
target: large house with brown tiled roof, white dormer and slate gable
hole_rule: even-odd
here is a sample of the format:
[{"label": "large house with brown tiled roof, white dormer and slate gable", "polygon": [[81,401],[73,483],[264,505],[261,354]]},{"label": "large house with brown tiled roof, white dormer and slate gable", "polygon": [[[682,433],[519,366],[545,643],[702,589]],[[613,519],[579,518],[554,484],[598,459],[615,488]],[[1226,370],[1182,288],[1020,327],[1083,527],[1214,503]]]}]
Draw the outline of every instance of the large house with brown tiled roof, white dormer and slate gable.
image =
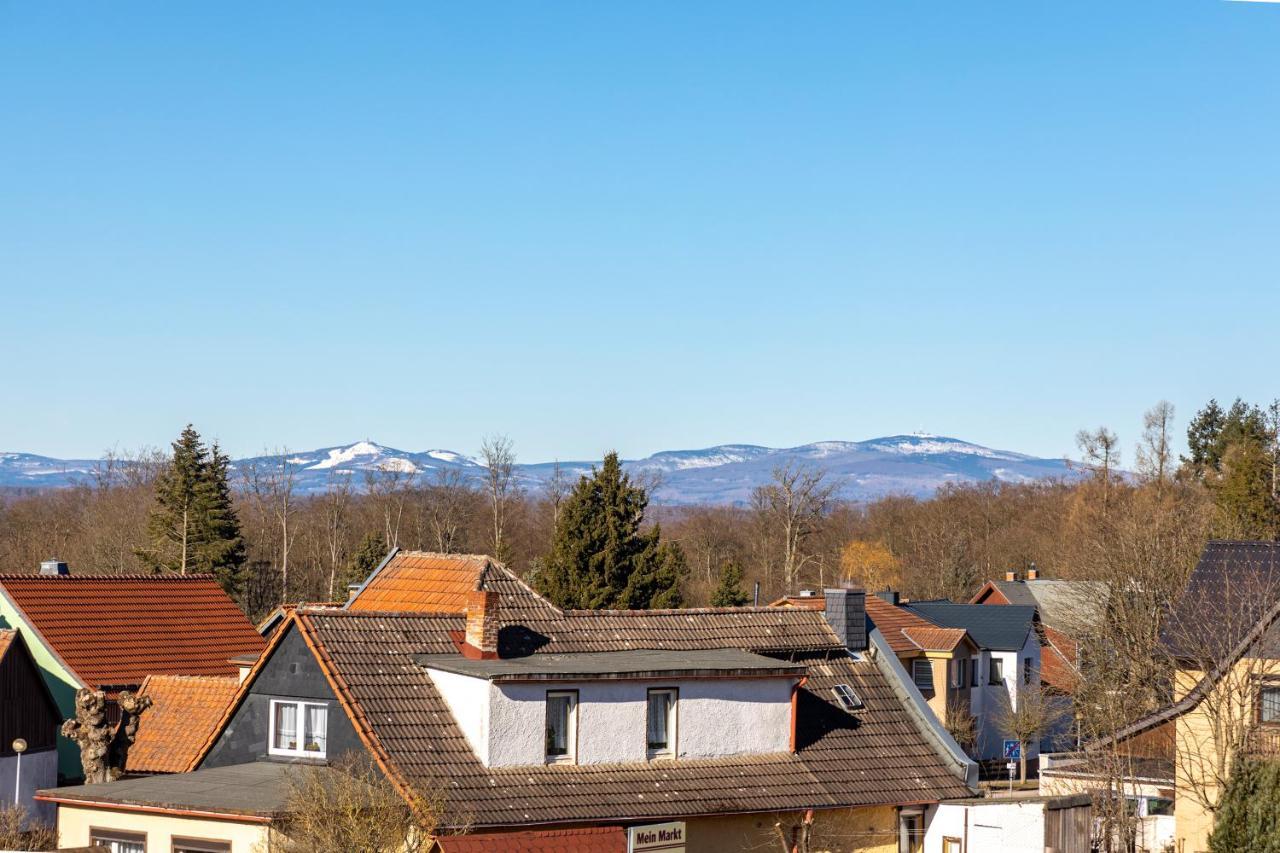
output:
[{"label": "large house with brown tiled roof, white dormer and slate gable", "polygon": [[[291,762],[348,752],[440,799],[444,850],[460,829],[621,827],[714,853],[810,816],[832,850],[914,853],[928,807],[973,794],[973,762],[868,634],[861,590],[822,611],[563,611],[488,558],[442,561],[394,552],[346,608],[292,611],[189,772],[45,792],[61,843],[247,852]],[[440,583],[393,594],[412,576]],[[485,849],[535,849],[517,840]]]}]

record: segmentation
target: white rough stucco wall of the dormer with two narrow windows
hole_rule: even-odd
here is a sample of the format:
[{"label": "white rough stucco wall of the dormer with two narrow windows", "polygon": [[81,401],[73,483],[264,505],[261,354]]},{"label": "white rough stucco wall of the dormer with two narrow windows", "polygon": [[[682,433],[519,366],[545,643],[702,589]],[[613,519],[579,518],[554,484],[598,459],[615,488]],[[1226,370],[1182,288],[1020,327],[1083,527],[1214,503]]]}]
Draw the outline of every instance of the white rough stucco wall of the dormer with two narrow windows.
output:
[{"label": "white rough stucco wall of the dormer with two narrow windows", "polygon": [[[786,752],[791,747],[791,679],[492,685],[440,671],[431,671],[431,679],[476,757],[490,767],[543,763],[548,690],[577,690],[580,765],[645,761],[646,697],[658,686],[680,690],[676,749],[682,758]],[[488,745],[476,748],[472,738]]]}]

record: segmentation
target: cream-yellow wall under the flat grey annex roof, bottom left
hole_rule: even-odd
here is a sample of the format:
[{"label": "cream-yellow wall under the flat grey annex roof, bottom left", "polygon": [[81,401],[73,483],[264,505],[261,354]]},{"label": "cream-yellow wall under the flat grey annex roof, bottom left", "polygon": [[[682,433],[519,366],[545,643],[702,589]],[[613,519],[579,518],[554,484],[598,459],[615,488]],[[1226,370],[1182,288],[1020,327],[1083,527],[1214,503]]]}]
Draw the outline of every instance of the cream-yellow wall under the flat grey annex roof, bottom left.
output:
[{"label": "cream-yellow wall under the flat grey annex roof, bottom left", "polygon": [[269,850],[266,826],[261,824],[58,806],[59,847],[87,847],[91,827],[146,833],[147,853],[169,853],[173,849],[175,836],[230,841],[232,853],[268,853]]}]

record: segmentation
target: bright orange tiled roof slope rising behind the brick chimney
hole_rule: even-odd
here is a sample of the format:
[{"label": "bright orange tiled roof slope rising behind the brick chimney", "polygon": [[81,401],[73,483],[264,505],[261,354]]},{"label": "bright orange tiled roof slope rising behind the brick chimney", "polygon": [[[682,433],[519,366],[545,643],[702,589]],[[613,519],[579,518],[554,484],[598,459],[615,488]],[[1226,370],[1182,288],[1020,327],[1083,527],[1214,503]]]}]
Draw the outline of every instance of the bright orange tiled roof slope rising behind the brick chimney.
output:
[{"label": "bright orange tiled roof slope rising behind the brick chimney", "polygon": [[397,551],[347,605],[353,611],[461,613],[488,557]]}]

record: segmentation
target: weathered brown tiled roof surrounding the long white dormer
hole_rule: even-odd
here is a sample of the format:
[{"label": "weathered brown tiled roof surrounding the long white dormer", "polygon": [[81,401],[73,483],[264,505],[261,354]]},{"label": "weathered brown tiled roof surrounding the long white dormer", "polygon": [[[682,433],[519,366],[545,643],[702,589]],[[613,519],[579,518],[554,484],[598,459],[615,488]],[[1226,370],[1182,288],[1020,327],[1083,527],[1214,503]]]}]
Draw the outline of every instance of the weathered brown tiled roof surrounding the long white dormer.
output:
[{"label": "weathered brown tiled roof surrounding the long white dormer", "polygon": [[[413,663],[420,653],[453,652],[449,633],[463,628],[461,616],[303,610],[297,624],[330,670],[366,744],[397,781],[440,792],[449,825],[669,818],[969,794],[876,663],[850,658],[813,611],[567,613],[559,625],[544,622],[548,651],[737,647],[808,666],[796,753],[664,765],[486,768],[430,676]],[[865,708],[852,715],[840,710],[836,684],[850,685]]]}]

